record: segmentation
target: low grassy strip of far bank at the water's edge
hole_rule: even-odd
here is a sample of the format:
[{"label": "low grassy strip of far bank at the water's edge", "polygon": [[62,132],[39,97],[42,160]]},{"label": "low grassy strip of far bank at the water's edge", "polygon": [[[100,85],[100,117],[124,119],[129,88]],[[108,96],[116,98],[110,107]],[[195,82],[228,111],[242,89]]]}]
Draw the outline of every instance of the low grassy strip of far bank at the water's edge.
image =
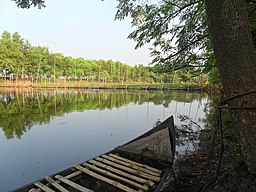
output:
[{"label": "low grassy strip of far bank at the water's edge", "polygon": [[55,88],[55,89],[126,89],[126,90],[185,90],[201,91],[198,84],[149,84],[149,83],[98,83],[87,81],[56,81],[56,82],[38,82],[30,81],[2,81],[0,87],[17,88]]}]

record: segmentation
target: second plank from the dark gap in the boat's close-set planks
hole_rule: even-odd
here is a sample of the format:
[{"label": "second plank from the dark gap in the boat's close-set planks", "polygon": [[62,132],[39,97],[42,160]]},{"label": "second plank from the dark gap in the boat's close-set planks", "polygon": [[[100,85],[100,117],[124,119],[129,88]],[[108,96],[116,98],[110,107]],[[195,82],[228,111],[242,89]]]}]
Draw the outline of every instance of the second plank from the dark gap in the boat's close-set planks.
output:
[{"label": "second plank from the dark gap in the boat's close-set planks", "polygon": [[115,175],[115,174],[113,174],[113,173],[111,173],[111,172],[109,172],[109,171],[106,171],[106,170],[103,170],[103,169],[101,169],[101,168],[98,168],[98,167],[96,167],[95,165],[91,165],[91,164],[89,164],[89,163],[83,163],[83,165],[86,166],[86,167],[88,167],[88,168],[90,168],[90,169],[92,169],[92,170],[94,170],[94,171],[97,171],[97,172],[99,172],[99,173],[101,173],[101,174],[103,174],[103,175],[106,175],[106,176],[112,177],[112,178],[114,178],[114,179],[120,180],[120,181],[122,181],[122,182],[124,182],[124,183],[127,183],[127,184],[129,184],[129,185],[131,185],[131,186],[133,186],[133,187],[138,188],[138,189],[143,189],[144,191],[147,191],[147,190],[148,190],[148,186],[147,186],[147,185],[141,185],[141,184],[139,184],[139,183],[136,183],[136,182],[131,181],[131,180],[129,180],[129,179],[126,179],[126,178],[124,178],[124,177]]}]

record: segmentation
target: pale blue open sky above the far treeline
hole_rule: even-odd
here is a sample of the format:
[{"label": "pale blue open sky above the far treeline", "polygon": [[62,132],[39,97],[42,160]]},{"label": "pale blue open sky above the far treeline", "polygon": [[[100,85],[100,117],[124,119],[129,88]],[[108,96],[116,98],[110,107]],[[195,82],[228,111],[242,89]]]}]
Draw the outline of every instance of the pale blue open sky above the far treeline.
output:
[{"label": "pale blue open sky above the far treeline", "polygon": [[127,39],[130,20],[114,21],[116,6],[116,0],[46,0],[46,8],[38,10],[1,0],[0,33],[17,31],[32,45],[47,46],[65,56],[146,65],[148,48],[134,50],[135,42]]}]

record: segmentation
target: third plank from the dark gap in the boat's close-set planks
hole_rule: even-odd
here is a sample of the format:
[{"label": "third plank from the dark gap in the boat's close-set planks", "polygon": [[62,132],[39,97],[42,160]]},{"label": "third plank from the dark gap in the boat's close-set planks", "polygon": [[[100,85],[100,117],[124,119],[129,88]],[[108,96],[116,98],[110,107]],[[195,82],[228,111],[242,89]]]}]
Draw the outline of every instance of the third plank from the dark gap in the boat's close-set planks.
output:
[{"label": "third plank from the dark gap in the boat's close-set planks", "polygon": [[149,186],[154,186],[155,183],[151,180],[146,180],[146,179],[143,179],[141,177],[137,177],[135,175],[132,175],[132,174],[129,174],[129,173],[126,173],[124,171],[120,171],[119,169],[115,169],[109,165],[106,165],[106,164],[103,164],[103,163],[100,163],[98,161],[95,161],[95,160],[90,160],[89,163],[91,164],[94,164],[94,165],[97,165],[98,167],[101,167],[103,169],[106,169],[106,170],[109,170],[109,171],[112,171],[113,173],[117,173],[119,175],[122,175],[124,177],[127,177],[129,179],[132,179],[134,181],[137,181],[139,183],[142,183],[142,184],[145,184],[145,185],[149,185]]}]

